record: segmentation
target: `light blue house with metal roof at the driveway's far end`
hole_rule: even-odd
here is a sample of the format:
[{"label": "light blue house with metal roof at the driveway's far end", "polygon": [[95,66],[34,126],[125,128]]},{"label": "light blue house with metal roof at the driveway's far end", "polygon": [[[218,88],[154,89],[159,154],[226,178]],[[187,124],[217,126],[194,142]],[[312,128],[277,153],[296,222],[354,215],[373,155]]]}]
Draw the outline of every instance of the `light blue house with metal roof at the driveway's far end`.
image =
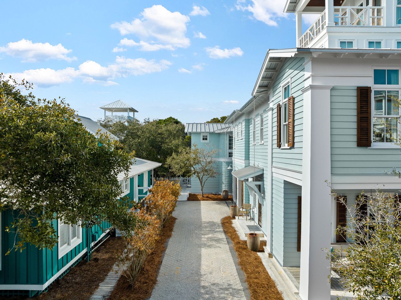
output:
[{"label": "light blue house with metal roof at the driveway's far end", "polygon": [[[219,175],[209,178],[203,189],[204,193],[232,193],[231,169],[233,163],[233,128],[229,123],[187,123],[185,132],[191,136],[192,148],[204,148],[208,151],[219,150],[216,154],[216,170]],[[196,176],[191,178],[191,193],[200,194],[201,184]]]}]

